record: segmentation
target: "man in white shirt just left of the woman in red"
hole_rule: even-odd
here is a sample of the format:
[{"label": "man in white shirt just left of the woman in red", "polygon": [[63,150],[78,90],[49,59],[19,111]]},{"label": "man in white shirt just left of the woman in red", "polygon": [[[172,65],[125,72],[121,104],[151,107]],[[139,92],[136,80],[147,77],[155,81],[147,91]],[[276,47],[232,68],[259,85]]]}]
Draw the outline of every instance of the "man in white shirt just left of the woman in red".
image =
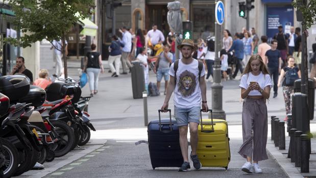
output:
[{"label": "man in white shirt just left of the woman in red", "polygon": [[122,43],[124,44],[124,47],[122,48],[122,56],[121,56],[121,63],[123,68],[122,74],[127,74],[127,68],[131,71],[131,62],[129,61],[128,57],[132,50],[132,34],[128,31],[126,27],[123,27],[122,29],[119,29],[119,32],[122,33]]}]

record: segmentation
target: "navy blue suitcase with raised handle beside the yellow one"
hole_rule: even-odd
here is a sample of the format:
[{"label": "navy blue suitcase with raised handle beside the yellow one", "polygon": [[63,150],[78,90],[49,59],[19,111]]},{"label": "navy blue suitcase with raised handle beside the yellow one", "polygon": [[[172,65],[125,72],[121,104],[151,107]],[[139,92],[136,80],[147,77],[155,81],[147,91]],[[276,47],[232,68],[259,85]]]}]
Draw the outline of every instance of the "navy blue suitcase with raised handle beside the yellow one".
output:
[{"label": "navy blue suitcase with raised handle beside the yellow one", "polygon": [[177,121],[171,119],[153,120],[148,124],[148,145],[152,167],[181,167],[183,158],[179,143],[179,127]]}]

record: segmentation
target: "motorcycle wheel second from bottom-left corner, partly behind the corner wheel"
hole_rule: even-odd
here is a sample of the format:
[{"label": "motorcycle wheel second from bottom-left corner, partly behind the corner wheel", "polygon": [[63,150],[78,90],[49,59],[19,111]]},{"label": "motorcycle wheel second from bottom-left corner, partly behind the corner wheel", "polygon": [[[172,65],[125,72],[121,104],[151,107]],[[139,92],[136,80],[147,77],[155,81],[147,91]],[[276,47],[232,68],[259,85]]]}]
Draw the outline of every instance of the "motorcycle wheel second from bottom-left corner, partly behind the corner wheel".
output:
[{"label": "motorcycle wheel second from bottom-left corner, partly behind the corner wheel", "polygon": [[31,147],[29,148],[17,148],[19,151],[21,157],[24,159],[21,160],[20,165],[17,167],[16,171],[14,172],[13,176],[21,175],[22,173],[32,169],[34,165],[36,164],[37,158],[38,158],[38,151],[36,151],[31,142],[27,138],[23,138],[23,140],[26,142],[27,146]]}]

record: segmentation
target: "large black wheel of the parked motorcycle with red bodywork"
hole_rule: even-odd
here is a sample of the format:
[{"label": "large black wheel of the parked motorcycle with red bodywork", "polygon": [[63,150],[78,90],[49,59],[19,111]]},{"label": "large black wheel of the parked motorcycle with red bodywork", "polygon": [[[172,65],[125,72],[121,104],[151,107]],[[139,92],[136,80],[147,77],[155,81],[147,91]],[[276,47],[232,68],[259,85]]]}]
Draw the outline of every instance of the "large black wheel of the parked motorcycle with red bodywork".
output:
[{"label": "large black wheel of the parked motorcycle with red bodywork", "polygon": [[59,135],[58,146],[54,150],[55,157],[62,157],[66,155],[72,148],[75,142],[74,130],[70,128],[65,122],[54,120],[51,121],[55,126],[55,131]]}]

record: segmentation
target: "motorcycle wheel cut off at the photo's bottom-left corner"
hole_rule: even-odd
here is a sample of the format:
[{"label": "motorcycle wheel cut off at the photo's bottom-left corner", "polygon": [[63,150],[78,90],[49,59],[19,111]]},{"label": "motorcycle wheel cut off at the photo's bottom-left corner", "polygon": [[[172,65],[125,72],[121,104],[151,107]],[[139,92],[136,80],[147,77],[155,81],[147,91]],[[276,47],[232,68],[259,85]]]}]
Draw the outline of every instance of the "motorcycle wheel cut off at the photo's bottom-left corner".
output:
[{"label": "motorcycle wheel cut off at the photo's bottom-left corner", "polygon": [[20,163],[19,154],[16,147],[4,138],[0,138],[2,147],[0,147],[0,157],[4,159],[4,165],[0,168],[3,170],[3,177],[11,177]]}]

